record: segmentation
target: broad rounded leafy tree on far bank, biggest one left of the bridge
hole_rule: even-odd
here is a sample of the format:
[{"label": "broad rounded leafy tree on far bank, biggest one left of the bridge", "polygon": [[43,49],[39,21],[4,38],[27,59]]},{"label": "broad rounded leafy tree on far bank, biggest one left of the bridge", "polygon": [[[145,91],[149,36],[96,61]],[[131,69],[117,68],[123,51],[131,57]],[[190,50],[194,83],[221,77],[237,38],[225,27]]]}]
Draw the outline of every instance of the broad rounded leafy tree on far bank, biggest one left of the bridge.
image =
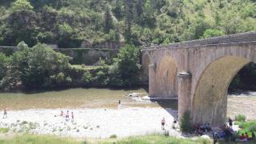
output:
[{"label": "broad rounded leafy tree on far bank, biggest one left of the bridge", "polygon": [[[43,44],[30,48],[26,55],[23,54],[22,59],[26,64],[22,66],[20,78],[26,88],[49,87],[52,75],[57,75],[57,81],[61,82],[62,75],[69,68],[69,58],[66,55],[57,53]],[[18,62],[22,61],[18,60]]]}]

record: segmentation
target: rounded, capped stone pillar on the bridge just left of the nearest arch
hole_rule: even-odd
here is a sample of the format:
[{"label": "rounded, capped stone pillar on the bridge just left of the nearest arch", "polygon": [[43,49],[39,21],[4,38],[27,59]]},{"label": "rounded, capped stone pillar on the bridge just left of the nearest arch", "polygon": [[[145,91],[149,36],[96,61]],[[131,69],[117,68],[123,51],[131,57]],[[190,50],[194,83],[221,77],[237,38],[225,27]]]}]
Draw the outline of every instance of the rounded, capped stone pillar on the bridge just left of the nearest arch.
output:
[{"label": "rounded, capped stone pillar on the bridge just left of the nearest arch", "polygon": [[178,73],[178,120],[183,114],[188,111],[191,116],[192,102],[191,102],[191,85],[192,75],[188,72]]}]

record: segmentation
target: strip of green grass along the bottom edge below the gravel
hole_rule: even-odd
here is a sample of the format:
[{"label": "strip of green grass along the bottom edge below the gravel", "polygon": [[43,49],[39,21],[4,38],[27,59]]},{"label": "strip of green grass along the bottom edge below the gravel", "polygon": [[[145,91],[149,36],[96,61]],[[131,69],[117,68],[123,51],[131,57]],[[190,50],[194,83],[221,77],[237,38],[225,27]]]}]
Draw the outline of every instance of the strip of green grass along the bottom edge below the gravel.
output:
[{"label": "strip of green grass along the bottom edge below the gravel", "polygon": [[197,140],[192,140],[190,138],[174,138],[174,137],[165,137],[163,135],[146,135],[146,136],[135,136],[130,138],[111,138],[111,139],[91,139],[86,140],[86,142],[82,142],[82,140],[75,140],[73,138],[58,138],[56,136],[46,136],[46,135],[22,135],[12,138],[0,138],[0,144],[20,144],[20,143],[30,143],[30,144],[44,144],[44,143],[98,143],[98,144],[147,144],[147,143],[173,143],[173,144],[210,144],[212,143],[210,140],[198,138]]}]

